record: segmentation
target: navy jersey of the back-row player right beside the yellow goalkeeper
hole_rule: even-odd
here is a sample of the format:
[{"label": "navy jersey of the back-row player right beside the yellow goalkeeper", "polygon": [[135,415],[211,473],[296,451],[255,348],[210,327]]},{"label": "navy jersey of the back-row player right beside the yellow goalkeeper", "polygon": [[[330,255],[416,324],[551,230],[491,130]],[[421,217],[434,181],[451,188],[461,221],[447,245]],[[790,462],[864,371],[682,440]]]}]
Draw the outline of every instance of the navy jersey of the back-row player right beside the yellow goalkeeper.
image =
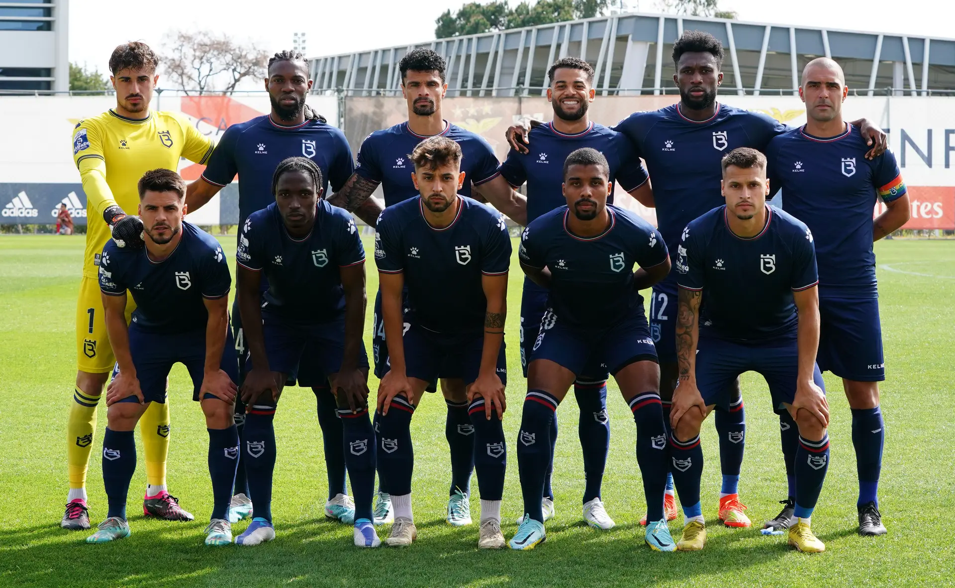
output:
[{"label": "navy jersey of the back-row player right beside the yellow goalkeeper", "polygon": [[243,225],[248,215],[275,202],[272,174],[289,157],[308,157],[315,162],[322,170],[326,193],[329,183],[331,190],[337,191],[354,171],[351,149],[341,129],[320,120],[283,126],[265,115],[225,129],[202,179],[227,185],[239,174],[239,225]]}]

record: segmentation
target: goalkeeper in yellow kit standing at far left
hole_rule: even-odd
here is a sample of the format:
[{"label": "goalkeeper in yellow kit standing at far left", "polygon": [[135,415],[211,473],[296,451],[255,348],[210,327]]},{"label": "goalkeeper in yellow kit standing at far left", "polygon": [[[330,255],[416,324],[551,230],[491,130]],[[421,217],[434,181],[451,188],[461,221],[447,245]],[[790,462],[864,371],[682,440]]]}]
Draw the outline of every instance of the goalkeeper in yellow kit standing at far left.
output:
[{"label": "goalkeeper in yellow kit standing at far left", "polygon": [[[76,301],[76,386],[67,430],[70,493],[60,526],[89,529],[86,470],[96,430],[96,405],[116,359],[106,334],[97,279],[99,255],[112,236],[120,247],[142,247],[142,223],[133,216],[137,182],[150,169],[177,171],[180,157],[205,163],[213,143],[185,117],[149,110],[159,76],[158,59],[145,44],[120,45],[110,57],[117,106],[80,120],[73,134],[73,157],[86,192],[87,233],[83,279]],[[135,304],[129,297],[126,320]],[[139,421],[146,458],[143,512],[170,520],[192,520],[166,490],[169,405],[151,403]],[[104,457],[108,459],[108,457]]]}]

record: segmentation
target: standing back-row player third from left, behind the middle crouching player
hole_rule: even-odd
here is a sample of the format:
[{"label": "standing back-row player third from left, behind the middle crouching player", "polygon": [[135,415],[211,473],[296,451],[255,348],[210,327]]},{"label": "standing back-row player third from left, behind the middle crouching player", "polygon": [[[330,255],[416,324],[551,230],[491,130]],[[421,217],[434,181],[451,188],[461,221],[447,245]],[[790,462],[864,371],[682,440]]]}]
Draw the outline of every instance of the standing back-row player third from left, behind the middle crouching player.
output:
[{"label": "standing back-row player third from left, behind the middle crouching player", "polygon": [[[329,198],[331,204],[356,211],[371,227],[375,226],[382,208],[371,193],[382,186],[385,207],[418,196],[412,179],[414,164],[409,154],[424,139],[447,137],[460,145],[461,171],[464,183],[462,196],[471,196],[472,188],[501,212],[521,225],[526,223],[526,201],[515,192],[498,172],[498,159],[486,141],[442,118],[441,100],[448,90],[445,83],[445,61],[430,49],[415,49],[398,62],[401,90],[408,101],[408,120],[391,128],[375,131],[362,142],[358,167],[340,191]],[[479,187],[478,187],[479,186]],[[374,373],[381,378],[388,371],[388,348],[385,344],[381,294],[374,299],[371,346]],[[448,501],[448,522],[453,525],[471,523],[467,500],[474,470],[474,435],[468,417],[468,403],[463,389],[455,393],[442,385],[448,404],[445,436],[451,447],[451,489]],[[375,509],[377,522],[392,519],[388,496],[380,493]]]}]

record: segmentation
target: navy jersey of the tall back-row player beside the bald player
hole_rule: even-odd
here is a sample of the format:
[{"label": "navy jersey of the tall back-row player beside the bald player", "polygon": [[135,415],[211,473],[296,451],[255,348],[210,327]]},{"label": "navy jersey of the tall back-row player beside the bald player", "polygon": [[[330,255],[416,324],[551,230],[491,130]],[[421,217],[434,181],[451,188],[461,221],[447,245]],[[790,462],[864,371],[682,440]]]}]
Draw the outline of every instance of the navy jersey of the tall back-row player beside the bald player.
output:
[{"label": "navy jersey of the tall back-row player beside the bald player", "polygon": [[634,143],[653,182],[657,226],[670,250],[691,220],[724,202],[720,160],[737,147],[764,151],[786,125],[767,115],[718,104],[710,120],[690,120],[680,104],[638,112],[614,130]]}]

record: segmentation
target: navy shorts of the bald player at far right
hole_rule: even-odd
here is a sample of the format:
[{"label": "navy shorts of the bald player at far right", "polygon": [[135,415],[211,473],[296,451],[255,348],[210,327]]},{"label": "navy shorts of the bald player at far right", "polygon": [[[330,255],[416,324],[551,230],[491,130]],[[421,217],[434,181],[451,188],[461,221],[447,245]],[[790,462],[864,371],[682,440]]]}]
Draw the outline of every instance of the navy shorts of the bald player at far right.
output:
[{"label": "navy shorts of the bald player at far right", "polygon": [[819,369],[853,381],[885,380],[879,293],[819,288]]}]

